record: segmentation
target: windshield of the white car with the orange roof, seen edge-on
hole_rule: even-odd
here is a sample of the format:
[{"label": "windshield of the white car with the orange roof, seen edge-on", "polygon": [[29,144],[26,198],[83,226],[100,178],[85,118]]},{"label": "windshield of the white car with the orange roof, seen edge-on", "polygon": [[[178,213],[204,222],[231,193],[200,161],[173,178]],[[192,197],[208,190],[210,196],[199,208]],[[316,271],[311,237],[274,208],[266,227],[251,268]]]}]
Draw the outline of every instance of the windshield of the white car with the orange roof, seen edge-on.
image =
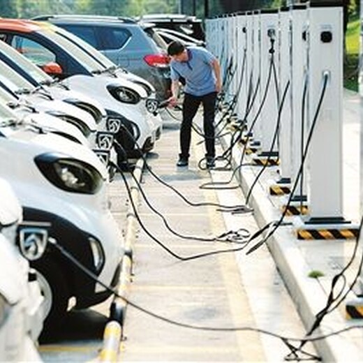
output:
[{"label": "windshield of the white car with the orange roof, seen edge-on", "polygon": [[73,43],[71,40],[61,36],[60,34],[57,34],[53,29],[42,30],[40,33],[59,45],[59,47],[65,50],[68,54],[71,54],[72,57],[76,58],[77,61],[79,61],[82,66],[84,66],[84,68],[86,68],[90,73],[104,71],[104,67],[102,67],[98,61],[96,61],[93,57],[90,57],[87,52],[84,52],[81,47],[75,45],[75,43]]}]

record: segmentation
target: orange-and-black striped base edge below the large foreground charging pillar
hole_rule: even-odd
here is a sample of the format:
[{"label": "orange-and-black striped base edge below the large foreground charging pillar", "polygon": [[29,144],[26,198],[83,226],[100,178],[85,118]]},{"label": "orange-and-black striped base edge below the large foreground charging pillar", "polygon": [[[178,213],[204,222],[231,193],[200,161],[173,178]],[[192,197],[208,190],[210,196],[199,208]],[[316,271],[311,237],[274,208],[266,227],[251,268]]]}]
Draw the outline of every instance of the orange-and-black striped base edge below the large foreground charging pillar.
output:
[{"label": "orange-and-black striped base edge below the large foreground charging pillar", "polygon": [[297,239],[355,239],[357,228],[299,228],[296,230]]}]

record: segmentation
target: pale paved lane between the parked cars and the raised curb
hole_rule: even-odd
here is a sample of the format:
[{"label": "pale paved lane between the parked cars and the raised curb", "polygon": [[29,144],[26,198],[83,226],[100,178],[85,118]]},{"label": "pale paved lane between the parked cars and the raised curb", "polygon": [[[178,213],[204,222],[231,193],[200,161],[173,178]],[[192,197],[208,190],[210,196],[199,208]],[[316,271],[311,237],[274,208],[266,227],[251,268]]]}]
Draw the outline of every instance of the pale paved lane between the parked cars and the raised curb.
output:
[{"label": "pale paved lane between the parked cars and the raised curb", "polygon": [[[197,124],[200,122],[198,119]],[[200,188],[213,180],[226,182],[231,172],[211,173],[198,168],[204,147],[193,135],[193,153],[188,168],[177,168],[179,122],[165,121],[161,140],[147,163],[164,182],[177,188],[194,203],[214,202],[243,205],[241,190]],[[222,152],[218,147],[218,152]],[[208,189],[207,189],[208,188]],[[170,228],[186,236],[211,238],[227,230],[258,230],[252,214],[218,211],[216,207],[191,207],[150,172],[142,177],[142,189]],[[140,218],[147,229],[133,247],[133,282],[129,298],[145,309],[175,322],[199,327],[251,327],[275,334],[302,336],[304,328],[267,251],[244,259],[242,253],[223,253],[181,261],[160,246],[185,258],[209,251],[236,249],[240,244],[202,242],[175,236],[140,201]],[[225,216],[225,214],[227,214]],[[226,218],[225,218],[226,217]],[[152,238],[149,234],[153,236]],[[155,242],[157,239],[158,242]],[[204,331],[172,325],[128,306],[124,327],[126,340],[122,361],[266,362],[283,361],[289,350],[278,338],[246,332]],[[307,350],[314,353],[311,345]]]}]

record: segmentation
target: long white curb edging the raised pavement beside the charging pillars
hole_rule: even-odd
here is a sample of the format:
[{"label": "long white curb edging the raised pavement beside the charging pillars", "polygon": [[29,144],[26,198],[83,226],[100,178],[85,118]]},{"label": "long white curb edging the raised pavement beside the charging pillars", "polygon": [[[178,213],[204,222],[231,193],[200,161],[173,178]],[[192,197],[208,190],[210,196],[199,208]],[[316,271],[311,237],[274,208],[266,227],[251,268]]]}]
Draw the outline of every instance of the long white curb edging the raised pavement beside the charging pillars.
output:
[{"label": "long white curb edging the raised pavement beside the charging pillars", "polygon": [[[228,136],[221,138],[223,149],[230,145]],[[241,160],[241,149],[233,150],[232,165],[236,168]],[[244,167],[240,183],[242,193],[246,195],[255,180],[255,170],[249,166]],[[251,207],[254,209],[255,220],[262,228],[271,221],[279,220],[281,212],[272,205],[269,195],[261,184],[256,184],[250,198]],[[287,217],[288,218],[288,217]],[[291,217],[290,217],[291,218]],[[293,217],[292,217],[293,218]],[[323,309],[327,302],[327,295],[316,279],[308,277],[309,266],[296,244],[296,237],[292,228],[284,226],[274,232],[267,241],[269,252],[286,283],[295,308],[302,318],[306,329],[310,329],[315,321],[316,314]],[[308,242],[309,243],[309,242]],[[317,334],[329,334],[337,329],[347,327],[346,320],[338,311],[332,311],[323,320],[323,324],[316,330]],[[331,336],[329,339],[315,341],[314,346],[318,354],[326,362],[353,362],[362,360],[362,353],[348,341],[349,332],[343,338]]]}]

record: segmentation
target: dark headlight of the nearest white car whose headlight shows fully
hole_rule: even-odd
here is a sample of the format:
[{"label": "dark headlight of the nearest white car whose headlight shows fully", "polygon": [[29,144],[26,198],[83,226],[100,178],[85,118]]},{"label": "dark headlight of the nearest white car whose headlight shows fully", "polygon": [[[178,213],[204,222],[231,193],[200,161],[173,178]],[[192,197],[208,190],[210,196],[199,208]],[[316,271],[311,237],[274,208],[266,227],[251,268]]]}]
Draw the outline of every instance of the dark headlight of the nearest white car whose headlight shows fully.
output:
[{"label": "dark headlight of the nearest white car whose headlight shows fully", "polygon": [[84,161],[55,153],[41,154],[34,161],[45,178],[64,191],[95,194],[103,185],[101,173]]}]

